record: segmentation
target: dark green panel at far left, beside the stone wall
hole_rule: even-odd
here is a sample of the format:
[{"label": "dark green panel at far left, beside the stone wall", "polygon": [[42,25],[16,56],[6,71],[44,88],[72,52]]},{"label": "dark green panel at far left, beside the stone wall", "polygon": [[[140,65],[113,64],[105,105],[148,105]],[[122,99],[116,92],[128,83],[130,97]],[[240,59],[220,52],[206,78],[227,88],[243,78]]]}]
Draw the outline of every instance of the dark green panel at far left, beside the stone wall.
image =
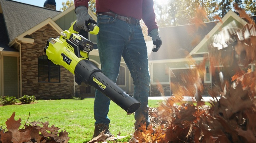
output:
[{"label": "dark green panel at far left, beside the stone wall", "polygon": [[17,57],[4,56],[4,96],[18,97]]}]

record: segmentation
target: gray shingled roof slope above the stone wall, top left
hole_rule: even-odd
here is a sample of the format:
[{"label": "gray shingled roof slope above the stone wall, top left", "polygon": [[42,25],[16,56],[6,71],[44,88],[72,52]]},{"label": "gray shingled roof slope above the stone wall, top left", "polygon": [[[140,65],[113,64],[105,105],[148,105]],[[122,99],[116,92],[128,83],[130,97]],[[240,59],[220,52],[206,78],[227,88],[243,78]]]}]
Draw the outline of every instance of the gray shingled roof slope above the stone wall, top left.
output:
[{"label": "gray shingled roof slope above the stone wall, top left", "polygon": [[61,11],[37,7],[12,0],[0,0],[9,42],[48,18]]}]

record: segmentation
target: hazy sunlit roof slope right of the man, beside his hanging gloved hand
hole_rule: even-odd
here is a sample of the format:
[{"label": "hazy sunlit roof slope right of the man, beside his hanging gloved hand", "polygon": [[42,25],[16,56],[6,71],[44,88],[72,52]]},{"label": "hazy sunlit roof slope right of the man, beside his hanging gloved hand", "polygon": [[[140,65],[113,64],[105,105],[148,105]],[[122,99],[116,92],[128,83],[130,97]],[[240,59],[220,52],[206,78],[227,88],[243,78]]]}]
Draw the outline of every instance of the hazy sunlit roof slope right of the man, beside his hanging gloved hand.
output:
[{"label": "hazy sunlit roof slope right of the man, beside his hanging gloved hand", "polygon": [[204,26],[188,24],[159,28],[162,45],[158,52],[151,52],[149,60],[184,58],[216,24],[208,22]]}]

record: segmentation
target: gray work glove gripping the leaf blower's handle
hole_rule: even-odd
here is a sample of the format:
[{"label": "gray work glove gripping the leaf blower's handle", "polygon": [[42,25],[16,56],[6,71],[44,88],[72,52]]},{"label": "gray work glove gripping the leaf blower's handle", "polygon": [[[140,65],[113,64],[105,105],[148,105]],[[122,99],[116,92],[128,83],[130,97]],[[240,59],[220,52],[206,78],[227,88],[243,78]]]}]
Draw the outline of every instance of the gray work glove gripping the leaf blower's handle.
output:
[{"label": "gray work glove gripping the leaf blower's handle", "polygon": [[97,24],[95,20],[88,14],[87,7],[79,6],[75,8],[76,13],[76,26],[80,29],[85,30],[86,32],[90,32],[90,28],[88,27],[89,23]]}]

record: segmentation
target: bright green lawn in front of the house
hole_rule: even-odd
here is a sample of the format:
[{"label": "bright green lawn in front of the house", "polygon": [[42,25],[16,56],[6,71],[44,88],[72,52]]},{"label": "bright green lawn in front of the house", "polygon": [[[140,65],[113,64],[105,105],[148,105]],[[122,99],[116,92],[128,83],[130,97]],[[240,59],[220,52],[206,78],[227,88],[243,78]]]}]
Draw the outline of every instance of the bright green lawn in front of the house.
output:
[{"label": "bright green lawn in front of the house", "polygon": [[[157,107],[160,101],[149,100],[150,107]],[[29,118],[29,122],[49,121],[49,126],[55,125],[69,133],[70,143],[86,143],[92,139],[94,132],[93,98],[83,100],[39,100],[33,104],[0,106],[0,126],[6,128],[5,121],[15,112],[15,120],[21,118],[21,127]],[[29,117],[30,113],[30,117]],[[116,103],[111,102],[108,114],[111,119],[110,131],[117,136],[134,133],[134,115],[126,112]],[[49,119],[47,119],[47,118]],[[129,137],[125,138],[126,141]],[[125,140],[124,140],[125,141]]]}]

